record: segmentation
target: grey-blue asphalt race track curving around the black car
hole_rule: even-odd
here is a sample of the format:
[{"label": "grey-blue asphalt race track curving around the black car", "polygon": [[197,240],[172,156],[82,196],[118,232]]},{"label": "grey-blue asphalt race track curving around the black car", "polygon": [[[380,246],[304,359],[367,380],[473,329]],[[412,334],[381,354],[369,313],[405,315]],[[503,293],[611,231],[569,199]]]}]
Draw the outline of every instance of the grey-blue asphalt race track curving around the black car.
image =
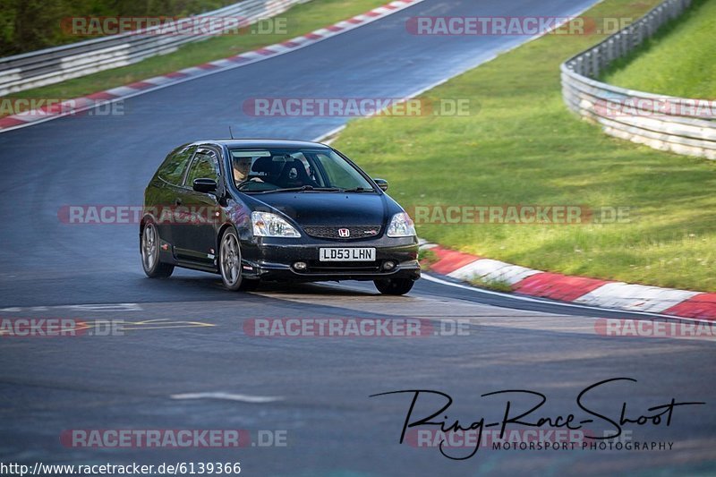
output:
[{"label": "grey-blue asphalt race track curving around the black car", "polygon": [[[0,342],[0,460],[34,463],[237,462],[248,475],[664,474],[714,468],[716,360],[697,339],[616,338],[598,318],[646,319],[556,302],[524,301],[421,280],[405,297],[372,284],[264,285],[226,292],[217,276],[175,271],[149,280],[137,226],[60,223],[64,205],[140,205],[149,177],[178,144],[226,137],[313,139],[340,117],[256,118],[255,97],[401,97],[523,42],[524,37],[416,37],[413,15],[560,15],[592,1],[426,0],[311,47],[149,92],[123,116],[65,117],[0,134],[0,317],[117,319],[123,336]],[[370,172],[370,171],[369,171]],[[123,304],[118,304],[123,303]],[[81,306],[81,305],[94,306]],[[467,319],[465,336],[261,338],[244,325],[262,318]],[[450,417],[498,418],[505,400],[480,395],[532,389],[548,396],[540,415],[578,413],[579,392],[618,419],[676,401],[670,425],[632,426],[634,441],[673,442],[671,451],[493,451],[455,461],[398,439],[409,396],[434,389],[455,399]],[[187,393],[231,393],[238,400]],[[174,397],[173,397],[174,396]],[[270,396],[266,402],[251,402]],[[436,408],[437,409],[437,408]],[[601,435],[604,422],[596,423]],[[609,426],[607,426],[609,427]],[[286,447],[236,449],[68,448],[71,429],[283,430]],[[454,449],[455,450],[455,449]],[[469,454],[469,448],[454,455]]]}]

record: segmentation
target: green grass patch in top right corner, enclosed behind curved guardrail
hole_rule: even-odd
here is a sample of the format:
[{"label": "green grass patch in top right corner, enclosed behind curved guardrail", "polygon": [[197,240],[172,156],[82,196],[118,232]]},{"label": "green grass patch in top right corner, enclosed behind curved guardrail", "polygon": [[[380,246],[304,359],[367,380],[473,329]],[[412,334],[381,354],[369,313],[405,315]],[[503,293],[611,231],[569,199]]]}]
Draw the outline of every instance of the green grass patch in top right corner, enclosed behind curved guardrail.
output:
[{"label": "green grass patch in top right corner, enclosed behind curved guardrail", "polygon": [[716,0],[691,8],[643,47],[614,64],[602,81],[682,98],[716,98]]}]

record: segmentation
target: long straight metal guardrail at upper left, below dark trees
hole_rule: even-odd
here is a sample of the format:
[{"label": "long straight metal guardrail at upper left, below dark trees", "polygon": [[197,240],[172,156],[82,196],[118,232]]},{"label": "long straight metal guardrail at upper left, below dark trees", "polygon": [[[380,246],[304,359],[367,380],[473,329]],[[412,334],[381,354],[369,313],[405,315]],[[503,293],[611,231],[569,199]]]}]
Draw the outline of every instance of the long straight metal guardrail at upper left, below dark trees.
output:
[{"label": "long straight metal guardrail at upper left, below dark trees", "polygon": [[175,25],[177,29],[184,26],[185,30],[201,18],[226,17],[240,19],[241,26],[245,26],[285,12],[294,4],[308,1],[243,0],[213,12],[158,27],[0,58],[0,96],[137,63],[149,56],[165,55],[185,43],[200,41],[235,28],[235,23],[207,21],[206,29],[197,34],[158,33],[171,31],[170,25]]}]

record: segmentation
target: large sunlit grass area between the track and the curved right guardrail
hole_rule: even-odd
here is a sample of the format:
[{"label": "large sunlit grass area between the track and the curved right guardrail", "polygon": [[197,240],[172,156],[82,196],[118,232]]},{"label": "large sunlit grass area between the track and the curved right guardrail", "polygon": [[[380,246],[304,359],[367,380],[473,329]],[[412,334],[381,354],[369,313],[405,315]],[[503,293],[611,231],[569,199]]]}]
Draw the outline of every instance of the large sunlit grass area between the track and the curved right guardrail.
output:
[{"label": "large sunlit grass area between the track and the curved right guardrail", "polygon": [[[585,13],[638,17],[658,0]],[[335,146],[416,205],[630,207],[611,225],[419,225],[434,243],[573,275],[716,291],[716,164],[619,141],[563,104],[559,64],[600,38],[547,36],[428,91],[472,115],[373,117]],[[478,110],[476,106],[480,105]]]}]

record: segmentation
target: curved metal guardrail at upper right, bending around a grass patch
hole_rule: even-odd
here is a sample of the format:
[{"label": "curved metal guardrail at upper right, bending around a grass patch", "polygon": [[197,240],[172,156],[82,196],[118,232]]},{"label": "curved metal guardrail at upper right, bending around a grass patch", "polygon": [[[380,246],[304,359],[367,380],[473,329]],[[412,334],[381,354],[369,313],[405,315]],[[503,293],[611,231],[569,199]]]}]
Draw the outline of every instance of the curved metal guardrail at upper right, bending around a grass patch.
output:
[{"label": "curved metal guardrail at upper right, bending around a grass patch", "polygon": [[561,65],[562,95],[578,115],[604,132],[653,149],[716,159],[716,100],[675,98],[596,81],[614,60],[677,18],[691,0],[666,0],[600,44]]}]

